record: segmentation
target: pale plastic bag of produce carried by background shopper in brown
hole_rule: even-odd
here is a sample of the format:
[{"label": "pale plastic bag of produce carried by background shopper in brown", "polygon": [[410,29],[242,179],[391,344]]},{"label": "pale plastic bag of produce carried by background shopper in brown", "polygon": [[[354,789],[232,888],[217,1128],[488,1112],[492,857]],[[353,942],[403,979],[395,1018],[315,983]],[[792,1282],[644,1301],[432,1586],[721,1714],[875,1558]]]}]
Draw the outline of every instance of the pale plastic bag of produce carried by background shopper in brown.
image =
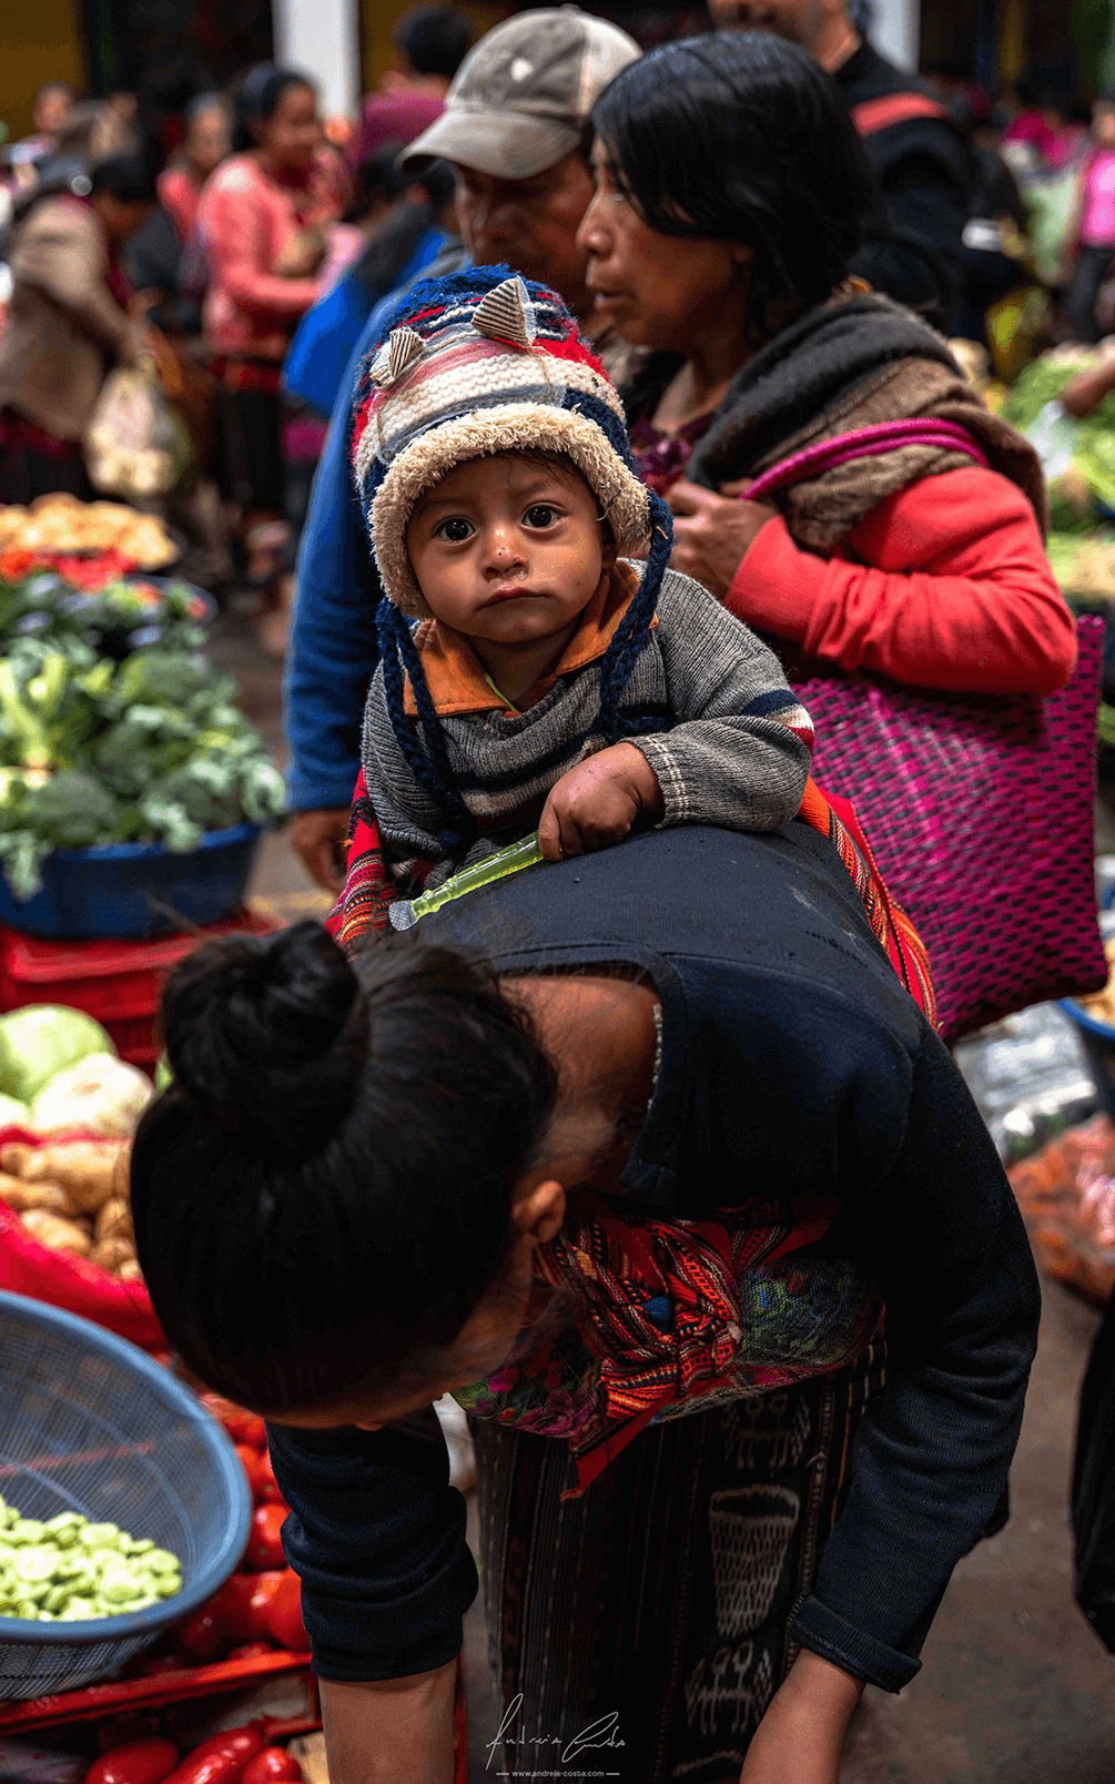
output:
[{"label": "pale plastic bag of produce carried by background shopper in brown", "polygon": [[182,416],[153,366],[120,366],[105,378],[86,430],[89,482],[130,501],[169,496],[193,462]]}]

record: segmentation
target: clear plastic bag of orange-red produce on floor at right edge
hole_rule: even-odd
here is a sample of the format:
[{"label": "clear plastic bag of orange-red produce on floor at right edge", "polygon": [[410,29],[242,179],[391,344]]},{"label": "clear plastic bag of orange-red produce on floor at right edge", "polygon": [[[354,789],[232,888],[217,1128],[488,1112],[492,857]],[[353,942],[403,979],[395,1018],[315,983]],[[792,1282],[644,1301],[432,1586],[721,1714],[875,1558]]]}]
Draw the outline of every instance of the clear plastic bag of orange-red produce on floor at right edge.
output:
[{"label": "clear plastic bag of orange-red produce on floor at right edge", "polygon": [[1095,1115],[1015,1165],[1038,1268],[1106,1306],[1115,1286],[1115,1124]]}]

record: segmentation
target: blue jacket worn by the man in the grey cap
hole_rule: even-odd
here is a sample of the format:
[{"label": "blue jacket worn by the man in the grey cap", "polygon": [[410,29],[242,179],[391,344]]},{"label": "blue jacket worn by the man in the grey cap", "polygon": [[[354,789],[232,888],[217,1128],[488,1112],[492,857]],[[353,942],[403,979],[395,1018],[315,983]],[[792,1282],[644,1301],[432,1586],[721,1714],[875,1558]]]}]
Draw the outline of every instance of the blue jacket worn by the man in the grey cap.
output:
[{"label": "blue jacket worn by the man in the grey cap", "polygon": [[[419,275],[455,271],[460,260],[462,250],[453,243],[432,264],[419,268],[407,285]],[[407,285],[389,293],[368,318],[344,368],[314,476],[298,549],[298,592],[284,680],[291,812],[348,806],[360,769],[360,723],[378,662],[375,610],[380,583],[348,466],[351,396],[360,360]]]}]

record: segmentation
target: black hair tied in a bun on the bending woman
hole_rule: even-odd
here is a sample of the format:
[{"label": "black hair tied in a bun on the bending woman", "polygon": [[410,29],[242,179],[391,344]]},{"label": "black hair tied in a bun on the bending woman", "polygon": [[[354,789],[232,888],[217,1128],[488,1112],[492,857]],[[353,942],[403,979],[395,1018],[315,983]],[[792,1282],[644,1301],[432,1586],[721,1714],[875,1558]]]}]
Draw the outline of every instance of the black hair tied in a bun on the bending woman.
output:
[{"label": "black hair tied in a bun on the bending woman", "polygon": [[132,1213],[169,1343],[275,1415],[426,1370],[500,1279],[555,1101],[491,970],[403,937],[350,965],[300,922],[198,947],[162,1033]]}]

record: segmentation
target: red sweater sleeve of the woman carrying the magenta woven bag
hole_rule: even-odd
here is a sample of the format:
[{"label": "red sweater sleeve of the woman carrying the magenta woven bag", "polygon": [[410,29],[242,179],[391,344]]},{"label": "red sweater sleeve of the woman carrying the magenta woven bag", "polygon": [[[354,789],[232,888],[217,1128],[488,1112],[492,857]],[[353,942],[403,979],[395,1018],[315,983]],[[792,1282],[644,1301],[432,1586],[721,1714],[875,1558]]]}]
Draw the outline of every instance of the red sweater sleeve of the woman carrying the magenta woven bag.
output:
[{"label": "red sweater sleeve of the woman carrying the magenta woven bag", "polygon": [[915,687],[1053,694],[1076,626],[1029,501],[995,471],[946,471],[880,501],[840,557],[767,521],[726,596],[751,626],[842,669]]}]

